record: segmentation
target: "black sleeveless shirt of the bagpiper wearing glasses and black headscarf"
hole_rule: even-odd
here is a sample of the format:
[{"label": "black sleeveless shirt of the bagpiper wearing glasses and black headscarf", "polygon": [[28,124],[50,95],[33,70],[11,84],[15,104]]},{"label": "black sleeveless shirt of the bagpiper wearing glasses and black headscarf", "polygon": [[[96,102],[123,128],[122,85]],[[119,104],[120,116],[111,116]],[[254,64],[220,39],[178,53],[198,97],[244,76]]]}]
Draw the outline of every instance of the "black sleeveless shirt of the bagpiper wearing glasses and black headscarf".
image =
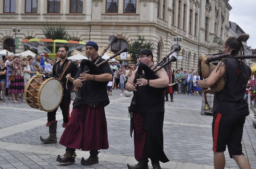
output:
[{"label": "black sleeveless shirt of the bagpiper wearing glasses and black headscarf", "polygon": [[[137,77],[137,72],[135,74]],[[145,74],[142,74],[141,78],[145,78]],[[133,83],[136,83],[134,78]],[[133,97],[136,97],[137,104],[130,106],[133,111],[138,111],[142,113],[163,113],[164,112],[164,89],[146,86],[138,86],[135,92],[133,91]]]}]

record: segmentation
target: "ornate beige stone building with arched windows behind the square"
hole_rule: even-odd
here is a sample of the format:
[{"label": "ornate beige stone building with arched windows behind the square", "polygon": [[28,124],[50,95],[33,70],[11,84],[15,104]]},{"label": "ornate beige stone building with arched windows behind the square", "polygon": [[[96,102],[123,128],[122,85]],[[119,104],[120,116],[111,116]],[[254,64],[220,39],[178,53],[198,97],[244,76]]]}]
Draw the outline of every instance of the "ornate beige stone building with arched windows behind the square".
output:
[{"label": "ornate beige stone building with arched windows behind the square", "polygon": [[[20,27],[16,37],[44,38],[42,26],[62,22],[74,40],[93,40],[99,47],[115,35],[115,51],[138,36],[152,40],[154,59],[160,60],[179,41],[178,68],[197,68],[198,56],[216,53],[228,36],[229,0],[1,0],[0,49],[15,49],[12,27]],[[175,64],[173,64],[175,67]]]}]

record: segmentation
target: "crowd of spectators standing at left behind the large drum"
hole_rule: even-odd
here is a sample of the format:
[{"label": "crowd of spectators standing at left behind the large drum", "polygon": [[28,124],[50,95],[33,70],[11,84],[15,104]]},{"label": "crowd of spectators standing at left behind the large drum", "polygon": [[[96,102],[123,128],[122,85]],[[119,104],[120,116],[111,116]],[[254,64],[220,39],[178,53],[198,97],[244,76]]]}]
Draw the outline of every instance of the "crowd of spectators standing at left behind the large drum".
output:
[{"label": "crowd of spectators standing at left behind the large drum", "polygon": [[[59,60],[60,58],[56,57],[55,62]],[[54,60],[45,58],[44,54],[36,54],[34,59],[30,55],[25,58],[5,56],[4,60],[0,60],[0,100],[5,102],[7,96],[13,103],[25,102],[24,89],[28,80],[36,74],[52,74],[53,64]],[[9,80],[10,75],[15,77],[14,81]]]}]

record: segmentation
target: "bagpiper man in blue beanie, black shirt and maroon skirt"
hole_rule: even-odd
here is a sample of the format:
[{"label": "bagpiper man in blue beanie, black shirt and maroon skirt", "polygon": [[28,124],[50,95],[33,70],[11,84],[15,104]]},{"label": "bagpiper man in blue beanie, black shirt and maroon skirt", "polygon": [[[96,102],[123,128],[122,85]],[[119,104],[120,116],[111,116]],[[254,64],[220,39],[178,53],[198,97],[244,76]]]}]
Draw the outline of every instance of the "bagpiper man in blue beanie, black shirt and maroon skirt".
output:
[{"label": "bagpiper man in blue beanie, black shirt and maroon skirt", "polygon": [[[94,64],[99,58],[97,51],[97,43],[93,41],[86,43],[85,54]],[[100,58],[97,64],[104,60]],[[82,99],[76,97],[72,118],[60,138],[60,144],[67,147],[64,157],[60,158],[60,155],[57,157],[60,163],[75,163],[75,151],[82,149],[82,151],[90,151],[90,157],[86,160],[82,158],[81,164],[93,165],[99,163],[98,150],[109,147],[104,107],[109,104],[106,85],[113,79],[112,70],[106,62],[97,68],[103,73],[97,74],[84,63],[86,60],[81,61],[80,69],[73,81],[74,87],[80,88]],[[90,73],[83,74],[86,70],[90,70]]]}]

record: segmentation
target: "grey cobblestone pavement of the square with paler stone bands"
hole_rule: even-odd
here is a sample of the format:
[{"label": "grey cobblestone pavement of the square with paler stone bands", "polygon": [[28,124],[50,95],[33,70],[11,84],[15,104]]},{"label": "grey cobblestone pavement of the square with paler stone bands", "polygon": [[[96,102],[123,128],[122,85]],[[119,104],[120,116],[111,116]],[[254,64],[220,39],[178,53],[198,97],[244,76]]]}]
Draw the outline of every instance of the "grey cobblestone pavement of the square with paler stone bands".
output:
[{"label": "grey cobblestone pavement of the square with paler stone bands", "polygon": [[[0,102],[0,168],[127,168],[127,163],[136,164],[127,111],[131,97],[119,94],[120,90],[113,90],[110,104],[105,107],[109,148],[100,150],[100,163],[92,166],[80,164],[81,158],[87,158],[89,152],[79,150],[75,164],[63,165],[56,161],[58,154],[64,154],[65,147],[40,141],[40,136],[49,134],[45,112],[25,103]],[[212,116],[200,114],[201,103],[202,96],[183,94],[174,95],[174,102],[165,102],[164,151],[170,162],[161,164],[163,168],[213,168]],[[251,113],[246,118],[242,145],[252,168],[256,168],[256,129],[252,127],[252,116]],[[60,109],[56,118],[59,140],[64,130]],[[227,168],[238,168],[229,158],[228,149],[225,157]]]}]

